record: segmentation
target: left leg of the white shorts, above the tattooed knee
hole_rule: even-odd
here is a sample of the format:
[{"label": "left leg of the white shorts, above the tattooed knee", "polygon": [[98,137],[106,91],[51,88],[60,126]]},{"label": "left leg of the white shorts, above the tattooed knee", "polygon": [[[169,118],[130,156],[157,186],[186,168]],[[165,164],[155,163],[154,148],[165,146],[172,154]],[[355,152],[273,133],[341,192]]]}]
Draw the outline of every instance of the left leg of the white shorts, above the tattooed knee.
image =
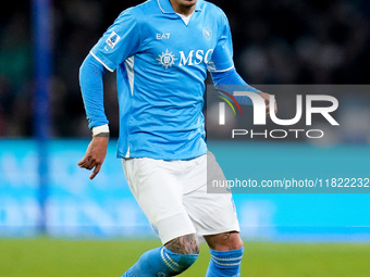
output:
[{"label": "left leg of the white shorts, above the tattooed knee", "polygon": [[168,162],[123,160],[128,187],[162,243],[195,234],[182,201],[182,189]]}]

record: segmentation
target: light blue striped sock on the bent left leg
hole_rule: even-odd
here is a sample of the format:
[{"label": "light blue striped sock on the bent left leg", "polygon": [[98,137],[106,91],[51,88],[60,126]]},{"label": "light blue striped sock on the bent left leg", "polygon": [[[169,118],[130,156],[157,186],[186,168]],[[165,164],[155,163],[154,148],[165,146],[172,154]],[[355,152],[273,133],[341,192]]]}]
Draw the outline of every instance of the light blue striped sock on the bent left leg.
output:
[{"label": "light blue striped sock on the bent left leg", "polygon": [[122,277],[166,277],[185,272],[197,260],[198,254],[177,254],[165,247],[145,252]]}]

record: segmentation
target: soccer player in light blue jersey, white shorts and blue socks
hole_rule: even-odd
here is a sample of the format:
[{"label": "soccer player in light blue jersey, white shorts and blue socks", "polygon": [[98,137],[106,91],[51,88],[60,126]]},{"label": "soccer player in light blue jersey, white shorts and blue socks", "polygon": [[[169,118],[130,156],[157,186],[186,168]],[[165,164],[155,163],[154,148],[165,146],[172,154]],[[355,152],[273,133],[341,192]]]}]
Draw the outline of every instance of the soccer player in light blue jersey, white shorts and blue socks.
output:
[{"label": "soccer player in light blue jersey, white shorts and blue socks", "polygon": [[[124,277],[183,273],[198,257],[198,236],[211,252],[206,276],[239,276],[244,247],[232,196],[207,193],[206,169],[224,178],[205,141],[207,70],[215,85],[248,86],[234,68],[225,14],[203,0],[149,0],[123,11],[81,67],[92,140],[78,165],[94,169],[92,179],[103,163],[109,127],[102,76],[116,71],[118,156],[163,244]],[[248,88],[268,102],[268,95]]]}]

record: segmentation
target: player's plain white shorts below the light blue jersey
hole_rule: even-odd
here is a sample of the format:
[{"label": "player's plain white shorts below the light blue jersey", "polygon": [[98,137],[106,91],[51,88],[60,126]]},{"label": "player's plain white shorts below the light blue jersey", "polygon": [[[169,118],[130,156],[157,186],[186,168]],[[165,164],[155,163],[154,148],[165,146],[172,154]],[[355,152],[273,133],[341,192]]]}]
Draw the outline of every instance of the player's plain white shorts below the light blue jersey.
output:
[{"label": "player's plain white shorts below the light blue jersey", "polygon": [[207,193],[207,164],[208,175],[224,179],[212,153],[189,161],[143,158],[122,163],[132,193],[163,244],[189,234],[239,231],[232,194]]}]

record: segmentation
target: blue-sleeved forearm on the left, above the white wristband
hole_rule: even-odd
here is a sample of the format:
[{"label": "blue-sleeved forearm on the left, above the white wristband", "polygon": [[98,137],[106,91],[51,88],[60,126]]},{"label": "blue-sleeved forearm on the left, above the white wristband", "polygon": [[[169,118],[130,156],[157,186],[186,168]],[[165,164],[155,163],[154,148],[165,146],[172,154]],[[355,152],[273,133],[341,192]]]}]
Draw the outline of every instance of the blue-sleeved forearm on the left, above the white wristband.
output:
[{"label": "blue-sleeved forearm on the left, above the white wristband", "polygon": [[88,54],[79,68],[79,86],[89,128],[108,124],[103,103],[102,76],[106,68]]}]

